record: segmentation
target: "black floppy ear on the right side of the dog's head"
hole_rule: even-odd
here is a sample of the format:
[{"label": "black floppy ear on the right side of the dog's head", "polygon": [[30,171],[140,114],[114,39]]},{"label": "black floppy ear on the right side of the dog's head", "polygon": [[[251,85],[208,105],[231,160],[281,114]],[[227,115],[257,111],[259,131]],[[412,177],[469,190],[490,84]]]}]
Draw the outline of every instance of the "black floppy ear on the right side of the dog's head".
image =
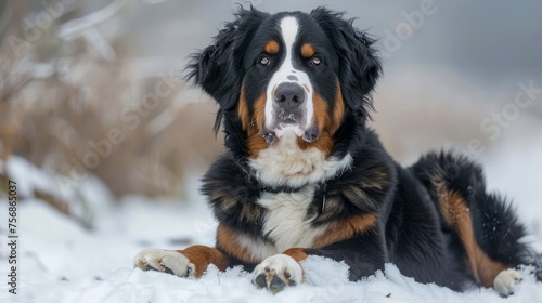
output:
[{"label": "black floppy ear on the right side of the dog's head", "polygon": [[357,30],[353,19],[344,19],[344,13],[318,8],[311,16],[335,47],[339,57],[337,76],[348,108],[369,118],[373,109],[371,93],[382,73],[380,58],[373,48],[375,40]]}]

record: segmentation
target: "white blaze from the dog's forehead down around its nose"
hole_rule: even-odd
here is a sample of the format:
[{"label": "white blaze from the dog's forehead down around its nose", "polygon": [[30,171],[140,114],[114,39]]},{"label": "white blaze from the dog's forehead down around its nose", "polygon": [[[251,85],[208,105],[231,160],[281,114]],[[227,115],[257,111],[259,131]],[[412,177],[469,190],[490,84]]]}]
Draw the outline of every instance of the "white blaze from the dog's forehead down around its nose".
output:
[{"label": "white blaze from the dog's forehead down around its nose", "polygon": [[[294,44],[296,43],[299,34],[299,23],[294,16],[286,16],[280,21],[281,36],[285,48],[285,57],[282,62],[281,67],[273,74],[271,80],[269,81],[267,90],[267,103],[266,103],[266,127],[271,129],[274,127],[275,113],[273,110],[274,95],[276,87],[281,83],[292,82],[297,83],[306,93],[305,98],[305,114],[306,121],[305,124],[299,126],[302,129],[307,129],[312,123],[312,115],[314,114],[314,107],[312,104],[312,85],[310,83],[309,76],[299,69],[294,68]],[[288,76],[295,76],[289,77]],[[302,122],[302,121],[300,121]]]}]

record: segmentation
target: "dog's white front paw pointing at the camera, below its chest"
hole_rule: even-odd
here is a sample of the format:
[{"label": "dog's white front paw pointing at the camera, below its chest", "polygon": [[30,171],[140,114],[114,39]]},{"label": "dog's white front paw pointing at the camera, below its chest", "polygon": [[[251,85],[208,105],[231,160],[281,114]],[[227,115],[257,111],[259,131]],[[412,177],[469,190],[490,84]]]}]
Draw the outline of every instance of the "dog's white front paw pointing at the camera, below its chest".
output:
[{"label": "dog's white front paw pointing at the camera, below its chest", "polygon": [[302,279],[301,265],[286,254],[267,258],[253,272],[253,284],[273,293],[283,290],[285,286],[298,285]]}]

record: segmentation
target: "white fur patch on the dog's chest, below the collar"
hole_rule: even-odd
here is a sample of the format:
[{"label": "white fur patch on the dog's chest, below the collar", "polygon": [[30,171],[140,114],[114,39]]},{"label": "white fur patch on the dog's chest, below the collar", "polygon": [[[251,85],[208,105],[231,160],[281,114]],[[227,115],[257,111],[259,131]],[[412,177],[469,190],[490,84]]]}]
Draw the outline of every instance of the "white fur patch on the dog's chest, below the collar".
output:
[{"label": "white fur patch on the dog's chest, below the collar", "polygon": [[314,227],[307,218],[307,209],[314,196],[313,187],[296,193],[264,193],[258,203],[268,212],[263,222],[263,234],[271,238],[278,251],[288,248],[310,248],[322,235],[326,225]]}]

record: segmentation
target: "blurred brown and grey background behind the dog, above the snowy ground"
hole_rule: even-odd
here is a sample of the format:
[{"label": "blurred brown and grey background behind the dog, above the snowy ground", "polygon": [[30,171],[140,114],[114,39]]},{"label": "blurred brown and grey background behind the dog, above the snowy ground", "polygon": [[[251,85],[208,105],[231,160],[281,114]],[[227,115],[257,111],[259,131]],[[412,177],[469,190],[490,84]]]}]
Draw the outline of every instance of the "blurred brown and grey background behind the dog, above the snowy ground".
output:
[{"label": "blurred brown and grey background behind the dog, above the snowy ground", "polygon": [[[238,3],[248,2],[0,1],[2,184],[18,177],[23,200],[89,227],[96,205],[126,196],[186,203],[223,146],[217,106],[182,80],[183,67]],[[357,17],[379,39],[373,127],[389,153],[410,164],[454,148],[486,166],[491,188],[540,202],[541,1],[251,3]]]}]

